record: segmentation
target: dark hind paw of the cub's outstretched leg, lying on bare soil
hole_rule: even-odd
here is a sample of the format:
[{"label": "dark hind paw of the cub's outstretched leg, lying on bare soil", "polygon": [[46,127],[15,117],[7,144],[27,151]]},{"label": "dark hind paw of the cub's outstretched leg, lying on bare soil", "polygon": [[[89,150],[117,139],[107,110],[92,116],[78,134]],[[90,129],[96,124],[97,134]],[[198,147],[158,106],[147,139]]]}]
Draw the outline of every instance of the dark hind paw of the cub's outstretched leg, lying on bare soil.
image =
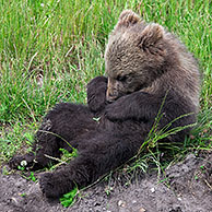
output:
[{"label": "dark hind paw of the cub's outstretched leg, lying on bare soil", "polygon": [[73,189],[73,182],[60,173],[45,173],[39,178],[39,186],[47,198],[59,198]]}]

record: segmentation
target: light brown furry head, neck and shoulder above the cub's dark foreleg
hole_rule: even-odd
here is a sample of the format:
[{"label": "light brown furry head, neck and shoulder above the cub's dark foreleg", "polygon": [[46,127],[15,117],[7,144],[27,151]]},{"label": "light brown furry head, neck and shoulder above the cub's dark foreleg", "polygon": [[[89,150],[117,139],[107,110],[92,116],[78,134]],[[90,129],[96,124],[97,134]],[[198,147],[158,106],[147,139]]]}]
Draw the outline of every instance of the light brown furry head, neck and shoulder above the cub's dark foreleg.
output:
[{"label": "light brown furry head, neck and shoulder above the cub's dark foreleg", "polygon": [[158,24],[146,24],[123,11],[105,51],[107,101],[143,91],[173,89],[198,107],[199,71],[186,47]]}]

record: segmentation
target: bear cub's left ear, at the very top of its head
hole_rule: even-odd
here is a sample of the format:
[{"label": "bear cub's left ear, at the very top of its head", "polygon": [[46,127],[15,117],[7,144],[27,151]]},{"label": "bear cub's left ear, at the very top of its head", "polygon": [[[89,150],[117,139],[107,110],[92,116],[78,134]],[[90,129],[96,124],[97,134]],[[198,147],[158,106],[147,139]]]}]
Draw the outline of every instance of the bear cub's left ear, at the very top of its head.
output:
[{"label": "bear cub's left ear, at the very top of its head", "polygon": [[140,16],[138,14],[131,10],[123,10],[115,28],[129,27],[137,24],[139,21]]}]

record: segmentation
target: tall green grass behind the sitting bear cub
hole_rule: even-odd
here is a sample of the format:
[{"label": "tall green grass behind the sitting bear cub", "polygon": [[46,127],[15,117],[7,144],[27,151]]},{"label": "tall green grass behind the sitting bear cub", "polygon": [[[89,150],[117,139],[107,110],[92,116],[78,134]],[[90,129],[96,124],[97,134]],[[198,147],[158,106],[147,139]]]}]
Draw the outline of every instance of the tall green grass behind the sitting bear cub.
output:
[{"label": "tall green grass behind the sitting bear cub", "polygon": [[174,154],[211,149],[211,0],[0,0],[0,165],[33,142],[59,102],[86,102],[86,83],[104,74],[109,32],[123,9],[175,33],[198,58],[202,90],[198,126]]}]

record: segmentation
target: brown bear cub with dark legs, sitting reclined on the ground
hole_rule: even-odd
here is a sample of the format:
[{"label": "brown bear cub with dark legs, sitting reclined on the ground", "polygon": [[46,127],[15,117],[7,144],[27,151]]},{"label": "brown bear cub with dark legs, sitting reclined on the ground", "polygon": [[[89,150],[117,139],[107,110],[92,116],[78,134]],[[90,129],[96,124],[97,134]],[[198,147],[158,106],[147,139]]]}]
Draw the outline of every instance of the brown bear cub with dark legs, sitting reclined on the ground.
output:
[{"label": "brown bear cub with dark legs, sitting reclined on the ground", "polygon": [[[157,130],[196,122],[198,64],[161,25],[123,11],[109,36],[105,64],[107,78],[97,76],[87,85],[87,106],[56,105],[35,136],[33,152],[10,161],[13,168],[26,161],[28,168],[38,169],[56,163],[52,157],[61,156],[59,149],[71,151],[64,140],[78,149],[69,164],[40,176],[48,198],[85,187],[133,157],[158,113]],[[189,130],[165,139],[182,142]]]}]

